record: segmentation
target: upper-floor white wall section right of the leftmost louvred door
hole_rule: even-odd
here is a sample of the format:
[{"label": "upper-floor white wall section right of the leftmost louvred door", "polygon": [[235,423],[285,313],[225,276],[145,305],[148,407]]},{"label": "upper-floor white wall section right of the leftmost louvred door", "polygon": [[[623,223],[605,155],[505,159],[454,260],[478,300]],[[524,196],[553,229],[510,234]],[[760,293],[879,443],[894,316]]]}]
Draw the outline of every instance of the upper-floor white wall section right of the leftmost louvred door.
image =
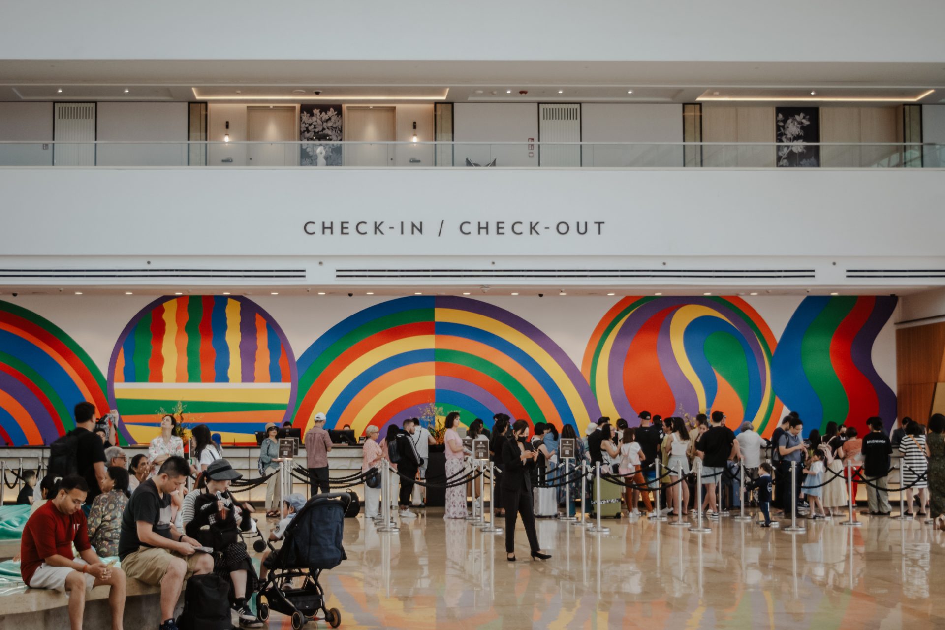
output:
[{"label": "upper-floor white wall section right of the leftmost louvred door", "polygon": [[98,145],[99,166],[187,164],[187,103],[98,103],[97,109],[97,141],[132,143]]}]

